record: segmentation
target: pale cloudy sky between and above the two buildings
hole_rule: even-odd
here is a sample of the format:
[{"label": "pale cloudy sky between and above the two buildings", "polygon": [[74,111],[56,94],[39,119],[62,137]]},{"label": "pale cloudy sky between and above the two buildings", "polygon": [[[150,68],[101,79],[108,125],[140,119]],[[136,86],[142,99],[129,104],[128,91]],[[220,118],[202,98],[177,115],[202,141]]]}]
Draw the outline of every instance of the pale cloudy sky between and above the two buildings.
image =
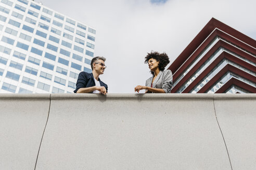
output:
[{"label": "pale cloudy sky between and above the two buildings", "polygon": [[94,56],[107,59],[100,79],[108,84],[109,93],[134,93],[135,86],[144,86],[151,77],[144,64],[147,52],[166,52],[168,68],[211,18],[256,39],[255,0],[41,2],[96,30]]}]

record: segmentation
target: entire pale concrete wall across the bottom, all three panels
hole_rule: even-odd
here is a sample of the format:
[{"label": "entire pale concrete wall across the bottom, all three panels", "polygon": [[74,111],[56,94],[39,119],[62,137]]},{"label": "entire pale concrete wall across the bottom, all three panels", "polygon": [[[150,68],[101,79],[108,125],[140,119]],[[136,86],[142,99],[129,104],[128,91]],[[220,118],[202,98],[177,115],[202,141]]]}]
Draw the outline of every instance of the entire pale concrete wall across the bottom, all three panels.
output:
[{"label": "entire pale concrete wall across the bottom, all three panels", "polygon": [[0,105],[1,169],[256,167],[255,94],[1,94]]}]

